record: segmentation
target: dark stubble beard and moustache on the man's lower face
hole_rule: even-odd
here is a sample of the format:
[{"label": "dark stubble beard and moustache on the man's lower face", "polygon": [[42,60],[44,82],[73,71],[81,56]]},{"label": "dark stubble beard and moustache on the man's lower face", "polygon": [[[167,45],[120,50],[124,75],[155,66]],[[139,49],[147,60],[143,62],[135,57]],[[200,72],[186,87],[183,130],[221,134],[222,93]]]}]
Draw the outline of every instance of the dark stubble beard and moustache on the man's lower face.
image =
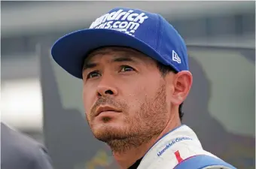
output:
[{"label": "dark stubble beard and moustache on the man's lower face", "polygon": [[[129,108],[128,104],[114,101],[113,98],[100,98],[94,107],[105,103],[122,110]],[[129,127],[113,128],[108,125],[108,122],[105,122],[100,131],[93,131],[93,134],[98,140],[107,143],[113,152],[124,152],[157,137],[166,126],[166,113],[166,85],[162,84],[157,89],[154,98],[146,96],[135,116],[123,113],[124,123],[129,124]]]}]

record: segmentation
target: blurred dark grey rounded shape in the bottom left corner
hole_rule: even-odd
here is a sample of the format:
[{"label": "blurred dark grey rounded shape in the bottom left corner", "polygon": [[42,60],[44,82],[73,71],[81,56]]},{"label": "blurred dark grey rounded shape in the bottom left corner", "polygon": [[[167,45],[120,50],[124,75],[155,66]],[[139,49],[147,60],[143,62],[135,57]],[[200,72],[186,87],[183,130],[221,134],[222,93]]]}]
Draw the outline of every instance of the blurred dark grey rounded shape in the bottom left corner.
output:
[{"label": "blurred dark grey rounded shape in the bottom left corner", "polygon": [[52,169],[50,157],[39,145],[1,122],[2,169]]}]

